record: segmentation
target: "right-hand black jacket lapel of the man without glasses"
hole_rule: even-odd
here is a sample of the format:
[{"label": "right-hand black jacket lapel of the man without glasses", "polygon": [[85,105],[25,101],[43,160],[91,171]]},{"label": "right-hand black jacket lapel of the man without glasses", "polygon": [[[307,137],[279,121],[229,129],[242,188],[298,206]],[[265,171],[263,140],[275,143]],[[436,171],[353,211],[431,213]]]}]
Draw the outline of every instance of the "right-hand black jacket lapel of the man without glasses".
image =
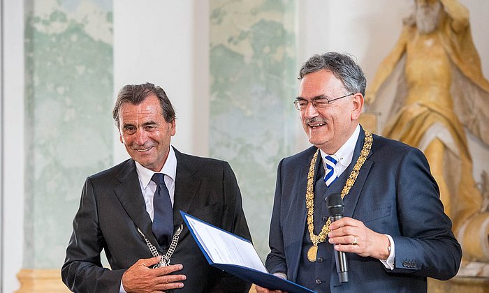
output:
[{"label": "right-hand black jacket lapel of the man without glasses", "polygon": [[178,227],[183,223],[180,211],[187,213],[197,195],[200,179],[194,176],[196,168],[187,156],[175,150],[177,157],[177,174],[175,178],[175,195],[173,197],[173,225]]}]

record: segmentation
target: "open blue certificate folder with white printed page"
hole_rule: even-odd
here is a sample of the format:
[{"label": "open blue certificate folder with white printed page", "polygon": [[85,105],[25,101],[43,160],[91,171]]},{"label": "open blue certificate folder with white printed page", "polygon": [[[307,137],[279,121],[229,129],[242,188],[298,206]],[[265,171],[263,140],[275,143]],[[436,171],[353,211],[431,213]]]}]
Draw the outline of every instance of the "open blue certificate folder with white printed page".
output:
[{"label": "open blue certificate folder with white printed page", "polygon": [[[290,293],[314,293],[314,291],[306,287],[268,273],[249,240],[214,227],[183,211],[180,211],[180,213],[184,218],[185,224],[189,227],[198,248],[200,248],[211,266],[270,290],[282,290]],[[240,247],[246,249],[240,249]],[[245,250],[247,254],[243,255]],[[231,255],[231,257],[228,257],[228,255]],[[214,256],[214,259],[216,257],[219,258],[219,260],[214,262],[212,256]],[[222,259],[220,259],[221,256],[223,257]],[[243,261],[243,265],[238,264],[240,260]],[[255,269],[247,266],[247,263],[250,264],[249,266],[254,266]]]}]

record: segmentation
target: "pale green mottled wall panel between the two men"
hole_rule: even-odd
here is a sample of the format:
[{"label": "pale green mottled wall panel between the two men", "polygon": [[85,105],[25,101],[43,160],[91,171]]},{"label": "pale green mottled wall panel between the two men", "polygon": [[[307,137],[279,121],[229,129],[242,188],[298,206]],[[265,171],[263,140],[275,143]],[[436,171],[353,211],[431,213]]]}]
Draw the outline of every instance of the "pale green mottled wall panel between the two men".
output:
[{"label": "pale green mottled wall panel between the two men", "polygon": [[210,1],[210,156],[238,177],[264,259],[277,164],[291,154],[297,114],[296,1]]}]

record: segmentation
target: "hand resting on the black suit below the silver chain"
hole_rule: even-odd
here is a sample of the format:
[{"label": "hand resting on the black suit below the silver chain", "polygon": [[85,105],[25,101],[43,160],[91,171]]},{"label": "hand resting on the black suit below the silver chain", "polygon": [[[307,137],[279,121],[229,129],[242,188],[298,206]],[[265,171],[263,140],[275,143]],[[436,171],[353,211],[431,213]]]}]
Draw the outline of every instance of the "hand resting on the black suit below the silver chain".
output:
[{"label": "hand resting on the black suit below the silver chain", "polygon": [[184,286],[182,280],[187,279],[185,275],[168,275],[174,271],[183,269],[182,264],[163,266],[150,269],[150,266],[157,264],[161,256],[141,259],[133,264],[122,275],[122,286],[126,292],[165,292],[166,290],[177,289]]}]

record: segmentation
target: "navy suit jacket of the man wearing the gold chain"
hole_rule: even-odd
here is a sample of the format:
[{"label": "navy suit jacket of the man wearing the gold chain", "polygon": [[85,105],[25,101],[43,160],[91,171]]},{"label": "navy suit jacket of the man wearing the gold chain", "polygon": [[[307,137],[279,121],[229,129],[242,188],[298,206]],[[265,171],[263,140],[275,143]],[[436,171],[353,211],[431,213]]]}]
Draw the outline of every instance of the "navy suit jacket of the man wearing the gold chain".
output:
[{"label": "navy suit jacket of the man wearing the gold chain", "polygon": [[[390,234],[395,243],[395,269],[379,260],[347,253],[349,283],[338,280],[331,263],[331,292],[423,292],[426,277],[446,280],[458,271],[462,252],[451,232],[439,190],[425,156],[418,149],[377,135],[356,183],[344,197],[344,216],[361,220],[375,232]],[[363,146],[365,132],[345,172],[351,172]],[[266,267],[298,276],[305,231],[307,172],[316,147],[284,158],[278,166]],[[347,175],[347,176],[348,176]],[[328,190],[328,193],[341,190]]]}]

